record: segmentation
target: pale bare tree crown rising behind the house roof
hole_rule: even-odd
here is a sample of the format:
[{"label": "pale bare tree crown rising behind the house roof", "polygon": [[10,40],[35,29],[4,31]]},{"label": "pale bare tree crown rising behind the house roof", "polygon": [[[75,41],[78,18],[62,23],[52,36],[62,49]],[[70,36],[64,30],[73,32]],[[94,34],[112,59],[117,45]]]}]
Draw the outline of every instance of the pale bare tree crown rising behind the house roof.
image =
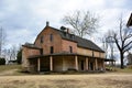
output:
[{"label": "pale bare tree crown rising behind the house roof", "polygon": [[89,11],[75,11],[73,14],[64,16],[63,22],[74,28],[74,33],[84,37],[86,34],[91,35],[96,32],[96,28],[99,24],[99,18]]}]

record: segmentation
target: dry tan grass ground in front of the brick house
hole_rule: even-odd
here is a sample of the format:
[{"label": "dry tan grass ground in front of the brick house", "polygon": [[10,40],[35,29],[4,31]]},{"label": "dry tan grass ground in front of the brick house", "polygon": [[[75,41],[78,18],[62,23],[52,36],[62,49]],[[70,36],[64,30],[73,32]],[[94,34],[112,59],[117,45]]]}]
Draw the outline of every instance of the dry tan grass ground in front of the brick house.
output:
[{"label": "dry tan grass ground in front of the brick house", "polygon": [[[7,73],[11,70],[4,70]],[[16,72],[16,69],[12,70]],[[132,73],[0,76],[0,88],[132,88]]]}]

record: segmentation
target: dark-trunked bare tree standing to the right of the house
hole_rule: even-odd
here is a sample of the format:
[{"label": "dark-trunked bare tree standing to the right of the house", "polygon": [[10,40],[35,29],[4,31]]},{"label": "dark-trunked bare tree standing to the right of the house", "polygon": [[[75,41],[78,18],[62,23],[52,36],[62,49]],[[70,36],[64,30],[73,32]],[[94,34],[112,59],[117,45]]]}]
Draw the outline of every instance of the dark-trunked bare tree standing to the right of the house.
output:
[{"label": "dark-trunked bare tree standing to the right of the house", "polygon": [[112,37],[120,52],[121,68],[124,68],[124,53],[132,48],[132,29],[124,26],[122,18],[119,20],[119,31]]}]

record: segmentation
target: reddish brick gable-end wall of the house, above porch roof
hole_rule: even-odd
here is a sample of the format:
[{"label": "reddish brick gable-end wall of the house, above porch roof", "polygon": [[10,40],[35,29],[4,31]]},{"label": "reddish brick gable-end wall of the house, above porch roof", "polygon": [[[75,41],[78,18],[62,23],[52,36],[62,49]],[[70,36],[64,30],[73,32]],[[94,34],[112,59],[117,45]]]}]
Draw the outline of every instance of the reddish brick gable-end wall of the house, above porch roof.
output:
[{"label": "reddish brick gable-end wall of the house, above porch roof", "polygon": [[[51,41],[51,34],[53,35],[53,41]],[[41,43],[41,36],[43,36],[43,43]],[[48,26],[37,36],[35,45],[43,48],[43,54],[51,54],[51,46],[54,48],[54,53],[62,52],[62,37],[61,35],[50,29]]]}]

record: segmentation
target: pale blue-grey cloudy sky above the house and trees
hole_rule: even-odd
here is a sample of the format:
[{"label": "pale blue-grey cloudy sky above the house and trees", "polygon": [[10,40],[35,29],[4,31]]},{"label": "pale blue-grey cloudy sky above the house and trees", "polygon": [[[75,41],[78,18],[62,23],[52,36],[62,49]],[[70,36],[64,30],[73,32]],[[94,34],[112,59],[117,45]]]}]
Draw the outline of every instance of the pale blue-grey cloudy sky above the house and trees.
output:
[{"label": "pale blue-grey cloudy sky above the house and trees", "polygon": [[132,0],[0,0],[0,26],[7,31],[7,46],[33,43],[46,21],[59,29],[62,18],[75,10],[100,15],[98,31],[103,34],[117,26],[121,13],[127,22]]}]

